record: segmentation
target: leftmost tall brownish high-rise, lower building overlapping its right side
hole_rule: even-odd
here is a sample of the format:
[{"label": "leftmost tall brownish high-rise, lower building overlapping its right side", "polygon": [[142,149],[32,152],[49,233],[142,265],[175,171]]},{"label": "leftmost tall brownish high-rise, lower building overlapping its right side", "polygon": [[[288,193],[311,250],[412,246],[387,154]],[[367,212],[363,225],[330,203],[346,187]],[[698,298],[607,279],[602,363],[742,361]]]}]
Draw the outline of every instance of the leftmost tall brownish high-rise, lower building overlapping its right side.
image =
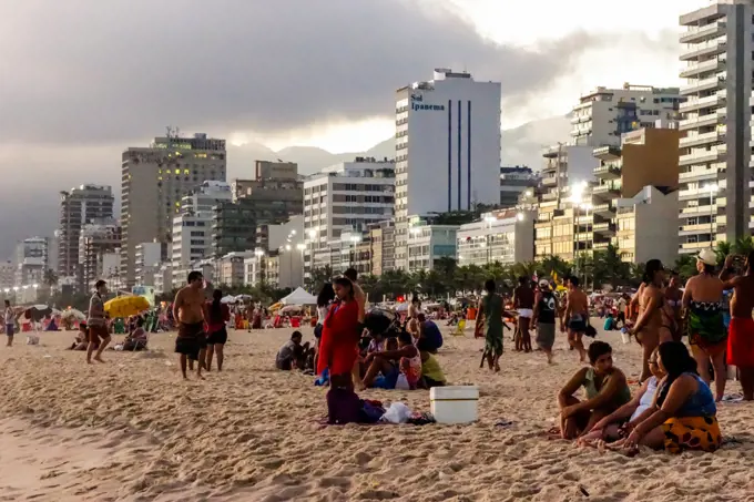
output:
[{"label": "leftmost tall brownish high-rise, lower building overlapping its right side", "polygon": [[113,217],[114,197],[110,186],[81,185],[60,193],[60,221],[58,232],[58,276],[78,277],[80,256],[79,237],[82,228],[95,221]]}]

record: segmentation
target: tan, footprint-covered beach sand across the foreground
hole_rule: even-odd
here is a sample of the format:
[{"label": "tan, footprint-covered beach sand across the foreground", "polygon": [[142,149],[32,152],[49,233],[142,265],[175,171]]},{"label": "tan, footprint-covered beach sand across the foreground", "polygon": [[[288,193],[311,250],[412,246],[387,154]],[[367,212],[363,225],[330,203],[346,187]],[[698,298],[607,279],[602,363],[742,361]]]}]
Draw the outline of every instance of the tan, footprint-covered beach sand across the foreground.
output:
[{"label": "tan, footprint-covered beach sand across the foreground", "polygon": [[[226,370],[201,382],[181,379],[174,334],[94,366],[63,350],[71,332],[43,332],[41,346],[17,337],[0,348],[0,500],[754,501],[752,404],[720,407],[735,441],[714,454],[629,459],[543,438],[556,393],[579,367],[562,336],[548,366],[542,354],[509,351],[506,332],[495,375],[479,369],[471,328],[465,338],[446,331],[439,361],[451,383],[479,386],[477,423],[323,427],[326,389],[274,369],[289,334],[231,330]],[[639,346],[618,332],[599,338],[635,379]],[[361,396],[429,411],[428,391]]]}]

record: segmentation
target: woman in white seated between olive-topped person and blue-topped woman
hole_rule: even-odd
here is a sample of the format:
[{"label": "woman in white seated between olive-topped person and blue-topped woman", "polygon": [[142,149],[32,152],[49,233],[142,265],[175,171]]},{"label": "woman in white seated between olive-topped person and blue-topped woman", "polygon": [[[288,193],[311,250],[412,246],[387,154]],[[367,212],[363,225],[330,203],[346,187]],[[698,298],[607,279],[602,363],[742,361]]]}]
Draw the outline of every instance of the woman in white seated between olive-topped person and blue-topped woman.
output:
[{"label": "woman in white seated between olive-topped person and blue-topped woman", "polygon": [[648,410],[652,408],[660,381],[665,377],[665,372],[658,363],[658,355],[659,349],[654,349],[649,360],[652,376],[644,381],[631,401],[597,422],[589,433],[579,439],[579,444],[594,445],[594,441],[598,440],[608,442],[618,441],[628,437],[633,428],[636,427],[636,423],[646,419]]}]

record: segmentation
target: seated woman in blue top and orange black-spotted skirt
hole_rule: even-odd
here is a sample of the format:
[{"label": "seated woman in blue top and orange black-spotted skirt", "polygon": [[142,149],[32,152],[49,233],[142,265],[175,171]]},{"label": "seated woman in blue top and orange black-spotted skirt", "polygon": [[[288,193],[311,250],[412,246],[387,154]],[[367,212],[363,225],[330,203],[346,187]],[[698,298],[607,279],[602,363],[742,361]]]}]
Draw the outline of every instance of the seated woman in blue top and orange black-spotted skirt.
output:
[{"label": "seated woman in blue top and orange black-spotted skirt", "polygon": [[680,341],[661,344],[659,352],[658,363],[666,376],[654,402],[629,437],[611,448],[635,452],[642,444],[671,453],[717,450],[722,443],[717,408],[710,386],[696,372],[696,361]]}]

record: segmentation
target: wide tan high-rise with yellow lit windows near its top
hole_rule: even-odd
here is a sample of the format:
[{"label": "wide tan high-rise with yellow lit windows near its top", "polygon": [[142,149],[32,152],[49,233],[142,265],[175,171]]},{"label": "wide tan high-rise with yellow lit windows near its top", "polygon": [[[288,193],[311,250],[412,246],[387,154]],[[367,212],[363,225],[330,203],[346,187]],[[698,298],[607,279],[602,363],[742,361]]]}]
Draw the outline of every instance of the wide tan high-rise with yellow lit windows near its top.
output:
[{"label": "wide tan high-rise with yellow lit windows near its top", "polygon": [[121,225],[122,269],[135,281],[135,253],[141,243],[170,240],[181,202],[205,181],[225,181],[225,140],[192,137],[169,131],[149,147],[123,152]]}]

